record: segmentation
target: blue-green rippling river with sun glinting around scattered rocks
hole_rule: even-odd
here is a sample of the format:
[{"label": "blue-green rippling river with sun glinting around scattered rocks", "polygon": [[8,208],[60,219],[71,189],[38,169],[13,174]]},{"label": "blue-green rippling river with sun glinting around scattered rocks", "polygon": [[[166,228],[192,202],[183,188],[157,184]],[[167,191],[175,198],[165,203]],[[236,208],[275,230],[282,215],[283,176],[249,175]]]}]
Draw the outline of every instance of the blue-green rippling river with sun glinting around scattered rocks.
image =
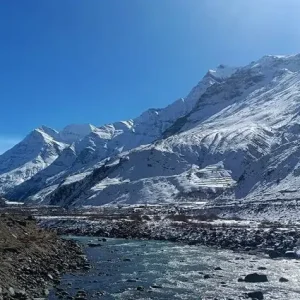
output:
[{"label": "blue-green rippling river with sun glinting around scattered rocks", "polygon": [[[87,244],[91,238],[76,239]],[[160,241],[108,239],[100,243],[101,247],[86,247],[92,265],[89,271],[62,278],[60,288],[69,295],[85,290],[87,299],[204,300],[245,299],[245,293],[262,291],[264,299],[300,300],[300,263],[295,260]],[[238,282],[254,272],[266,274],[269,281]],[[280,277],[289,281],[279,282]],[[59,299],[55,290],[49,299]]]}]

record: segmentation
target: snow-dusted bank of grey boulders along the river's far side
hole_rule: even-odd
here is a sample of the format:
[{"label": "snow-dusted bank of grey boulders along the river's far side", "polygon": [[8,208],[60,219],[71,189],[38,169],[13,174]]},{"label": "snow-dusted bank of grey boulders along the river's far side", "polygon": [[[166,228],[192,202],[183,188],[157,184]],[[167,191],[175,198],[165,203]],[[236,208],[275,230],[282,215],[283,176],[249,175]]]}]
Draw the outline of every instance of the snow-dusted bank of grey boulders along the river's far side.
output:
[{"label": "snow-dusted bank of grey boulders along the river's far side", "polygon": [[300,230],[296,225],[225,220],[203,215],[93,214],[59,219],[45,217],[40,223],[55,228],[59,234],[168,240],[249,254],[263,253],[270,258],[298,258],[300,241]]}]

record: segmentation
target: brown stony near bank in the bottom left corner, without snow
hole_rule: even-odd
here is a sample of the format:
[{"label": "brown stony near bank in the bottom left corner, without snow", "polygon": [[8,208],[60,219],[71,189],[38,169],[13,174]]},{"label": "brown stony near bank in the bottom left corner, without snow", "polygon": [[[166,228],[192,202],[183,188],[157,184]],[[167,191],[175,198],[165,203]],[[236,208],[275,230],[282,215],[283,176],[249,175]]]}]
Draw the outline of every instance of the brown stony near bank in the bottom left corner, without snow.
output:
[{"label": "brown stony near bank in the bottom left corner, without snow", "polygon": [[40,229],[34,218],[0,215],[0,299],[47,298],[65,272],[86,264],[81,247]]}]

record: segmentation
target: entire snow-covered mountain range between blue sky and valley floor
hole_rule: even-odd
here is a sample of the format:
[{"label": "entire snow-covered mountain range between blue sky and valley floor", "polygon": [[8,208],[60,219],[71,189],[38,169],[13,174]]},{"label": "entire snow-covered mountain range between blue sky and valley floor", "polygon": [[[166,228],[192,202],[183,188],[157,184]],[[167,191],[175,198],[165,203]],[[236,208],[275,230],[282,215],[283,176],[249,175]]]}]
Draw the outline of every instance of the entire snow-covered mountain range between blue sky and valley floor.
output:
[{"label": "entire snow-covered mountain range between blue sky and valley floor", "polygon": [[300,55],[220,65],[136,119],[35,130],[0,156],[1,188],[62,205],[296,199],[299,112]]}]

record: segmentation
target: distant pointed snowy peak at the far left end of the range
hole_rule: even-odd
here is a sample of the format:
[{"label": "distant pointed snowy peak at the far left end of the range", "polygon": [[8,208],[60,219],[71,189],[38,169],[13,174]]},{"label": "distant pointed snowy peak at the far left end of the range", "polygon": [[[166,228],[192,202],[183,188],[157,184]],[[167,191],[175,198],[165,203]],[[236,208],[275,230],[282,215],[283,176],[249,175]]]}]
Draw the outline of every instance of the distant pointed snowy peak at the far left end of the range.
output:
[{"label": "distant pointed snowy peak at the far left end of the range", "polygon": [[[90,124],[68,125],[61,132],[45,125],[34,129],[23,141],[0,155],[0,193],[27,182],[54,162],[61,164],[62,157],[66,156],[63,150],[70,147],[71,143],[79,142],[93,130],[96,127]],[[63,166],[60,171],[69,167],[70,162],[63,163]],[[58,171],[59,168],[55,170]],[[51,172],[54,175],[55,172]],[[49,173],[45,174],[49,176]]]}]

